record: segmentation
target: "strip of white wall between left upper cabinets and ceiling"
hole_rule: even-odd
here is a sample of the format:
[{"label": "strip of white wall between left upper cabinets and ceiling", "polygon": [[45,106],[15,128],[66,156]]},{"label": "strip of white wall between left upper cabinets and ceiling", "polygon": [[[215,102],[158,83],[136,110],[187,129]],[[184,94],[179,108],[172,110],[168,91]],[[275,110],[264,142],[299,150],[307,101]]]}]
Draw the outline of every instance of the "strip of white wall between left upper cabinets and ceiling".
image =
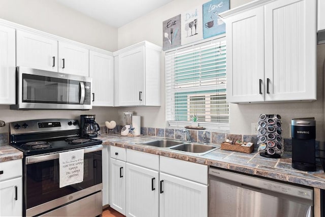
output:
[{"label": "strip of white wall between left upper cabinets and ceiling", "polygon": [[104,50],[117,50],[117,28],[54,0],[1,0],[0,18]]}]

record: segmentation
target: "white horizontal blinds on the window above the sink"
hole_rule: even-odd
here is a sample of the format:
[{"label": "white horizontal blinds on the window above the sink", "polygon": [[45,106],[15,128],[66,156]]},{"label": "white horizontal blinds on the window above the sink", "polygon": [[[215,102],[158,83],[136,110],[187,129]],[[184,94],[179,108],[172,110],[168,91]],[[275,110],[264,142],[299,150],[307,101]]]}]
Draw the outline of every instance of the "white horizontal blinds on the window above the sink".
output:
[{"label": "white horizontal blinds on the window above the sink", "polygon": [[166,53],[166,120],[171,127],[190,125],[229,131],[226,103],[226,44],[216,39]]}]

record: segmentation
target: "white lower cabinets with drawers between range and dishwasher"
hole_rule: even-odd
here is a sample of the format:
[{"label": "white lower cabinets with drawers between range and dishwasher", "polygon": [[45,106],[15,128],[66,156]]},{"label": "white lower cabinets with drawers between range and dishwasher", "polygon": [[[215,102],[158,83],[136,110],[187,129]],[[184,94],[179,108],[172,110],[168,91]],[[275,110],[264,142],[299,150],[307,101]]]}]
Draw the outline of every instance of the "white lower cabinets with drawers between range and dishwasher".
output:
[{"label": "white lower cabinets with drawers between range and dishwasher", "polygon": [[110,174],[110,205],[126,216],[208,216],[207,165],[111,146]]}]

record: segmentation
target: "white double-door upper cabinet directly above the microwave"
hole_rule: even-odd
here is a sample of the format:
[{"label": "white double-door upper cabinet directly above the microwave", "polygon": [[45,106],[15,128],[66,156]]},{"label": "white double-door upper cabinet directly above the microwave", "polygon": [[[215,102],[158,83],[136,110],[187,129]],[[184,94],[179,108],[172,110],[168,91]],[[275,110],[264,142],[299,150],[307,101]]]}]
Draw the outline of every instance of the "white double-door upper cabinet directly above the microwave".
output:
[{"label": "white double-door upper cabinet directly above the microwave", "polygon": [[17,66],[89,76],[89,50],[36,33],[17,30]]}]

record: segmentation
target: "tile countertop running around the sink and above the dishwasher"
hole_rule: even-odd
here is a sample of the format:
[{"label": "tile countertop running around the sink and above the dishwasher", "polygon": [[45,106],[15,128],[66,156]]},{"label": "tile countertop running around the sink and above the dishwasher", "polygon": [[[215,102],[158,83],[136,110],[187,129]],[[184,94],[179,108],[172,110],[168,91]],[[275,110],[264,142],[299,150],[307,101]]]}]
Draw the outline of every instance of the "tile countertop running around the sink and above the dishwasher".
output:
[{"label": "tile countertop running around the sink and above the dishwasher", "polygon": [[[122,137],[117,134],[103,134],[98,138],[103,140],[103,145],[119,146],[184,161],[243,172],[246,174],[325,189],[325,173],[321,166],[317,165],[316,172],[296,170],[291,167],[290,152],[284,152],[282,157],[279,159],[261,157],[257,153],[257,150],[254,150],[252,153],[242,153],[217,149],[203,156],[199,156],[198,154],[188,152],[184,153],[182,151],[175,151],[169,148],[137,144],[141,142],[163,139],[163,137]],[[220,145],[215,146],[220,147]]]}]

